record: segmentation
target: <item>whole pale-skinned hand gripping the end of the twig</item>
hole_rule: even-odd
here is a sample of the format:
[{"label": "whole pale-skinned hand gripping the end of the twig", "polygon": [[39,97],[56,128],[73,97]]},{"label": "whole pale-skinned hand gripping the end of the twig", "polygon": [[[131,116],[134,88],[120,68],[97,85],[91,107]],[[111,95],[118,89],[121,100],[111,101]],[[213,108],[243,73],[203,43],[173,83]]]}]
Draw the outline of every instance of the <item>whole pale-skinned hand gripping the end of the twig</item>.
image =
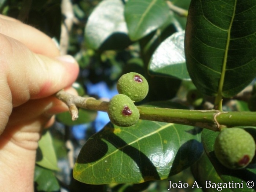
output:
[{"label": "whole pale-skinned hand gripping the end of the twig", "polygon": [[54,114],[67,111],[54,93],[78,75],[71,56],[59,55],[50,37],[0,15],[0,191],[33,192],[36,149]]}]

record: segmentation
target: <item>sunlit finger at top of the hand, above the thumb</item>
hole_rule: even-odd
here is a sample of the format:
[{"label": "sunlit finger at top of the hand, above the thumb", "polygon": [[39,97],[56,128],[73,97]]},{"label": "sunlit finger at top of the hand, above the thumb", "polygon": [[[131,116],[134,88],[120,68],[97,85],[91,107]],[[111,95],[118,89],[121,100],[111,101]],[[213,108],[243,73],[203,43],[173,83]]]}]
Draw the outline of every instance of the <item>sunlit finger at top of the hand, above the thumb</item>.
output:
[{"label": "sunlit finger at top of the hand, above the thumb", "polygon": [[0,15],[0,33],[21,41],[34,53],[55,57],[59,55],[59,49],[50,37],[22,22]]}]

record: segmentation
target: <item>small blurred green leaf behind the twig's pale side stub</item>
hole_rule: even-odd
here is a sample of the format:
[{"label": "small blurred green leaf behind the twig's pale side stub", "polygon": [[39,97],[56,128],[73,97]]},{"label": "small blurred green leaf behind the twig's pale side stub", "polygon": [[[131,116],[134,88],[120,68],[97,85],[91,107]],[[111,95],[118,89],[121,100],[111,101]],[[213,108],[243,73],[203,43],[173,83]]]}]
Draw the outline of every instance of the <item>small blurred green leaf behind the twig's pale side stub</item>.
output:
[{"label": "small blurred green leaf behind the twig's pale side stub", "polygon": [[72,121],[69,111],[62,112],[56,115],[56,118],[58,119],[59,122],[67,126],[79,125],[83,123],[92,122],[97,116],[97,111],[80,108],[78,110],[78,115],[79,117],[77,118],[76,121]]}]

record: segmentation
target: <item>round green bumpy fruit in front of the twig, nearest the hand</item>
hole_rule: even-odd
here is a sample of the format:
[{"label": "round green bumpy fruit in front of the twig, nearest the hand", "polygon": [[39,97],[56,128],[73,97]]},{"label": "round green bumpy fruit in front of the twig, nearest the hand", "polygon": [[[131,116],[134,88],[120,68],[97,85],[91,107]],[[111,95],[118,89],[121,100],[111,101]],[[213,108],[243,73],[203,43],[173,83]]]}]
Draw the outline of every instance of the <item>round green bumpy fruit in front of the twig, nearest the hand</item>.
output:
[{"label": "round green bumpy fruit in front of the twig, nearest the hand", "polygon": [[123,94],[117,94],[109,101],[107,111],[110,121],[117,126],[128,127],[139,120],[139,110],[132,100]]}]

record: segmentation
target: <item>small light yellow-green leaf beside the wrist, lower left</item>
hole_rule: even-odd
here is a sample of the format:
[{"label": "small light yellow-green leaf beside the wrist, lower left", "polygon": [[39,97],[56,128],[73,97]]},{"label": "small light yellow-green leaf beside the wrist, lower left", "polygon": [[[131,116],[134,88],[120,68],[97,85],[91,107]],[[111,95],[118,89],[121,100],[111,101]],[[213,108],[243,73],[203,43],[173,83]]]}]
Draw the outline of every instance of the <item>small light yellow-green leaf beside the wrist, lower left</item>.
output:
[{"label": "small light yellow-green leaf beside the wrist, lower left", "polygon": [[52,136],[46,131],[38,142],[39,147],[36,153],[36,164],[47,169],[59,170],[57,157],[52,143]]}]

